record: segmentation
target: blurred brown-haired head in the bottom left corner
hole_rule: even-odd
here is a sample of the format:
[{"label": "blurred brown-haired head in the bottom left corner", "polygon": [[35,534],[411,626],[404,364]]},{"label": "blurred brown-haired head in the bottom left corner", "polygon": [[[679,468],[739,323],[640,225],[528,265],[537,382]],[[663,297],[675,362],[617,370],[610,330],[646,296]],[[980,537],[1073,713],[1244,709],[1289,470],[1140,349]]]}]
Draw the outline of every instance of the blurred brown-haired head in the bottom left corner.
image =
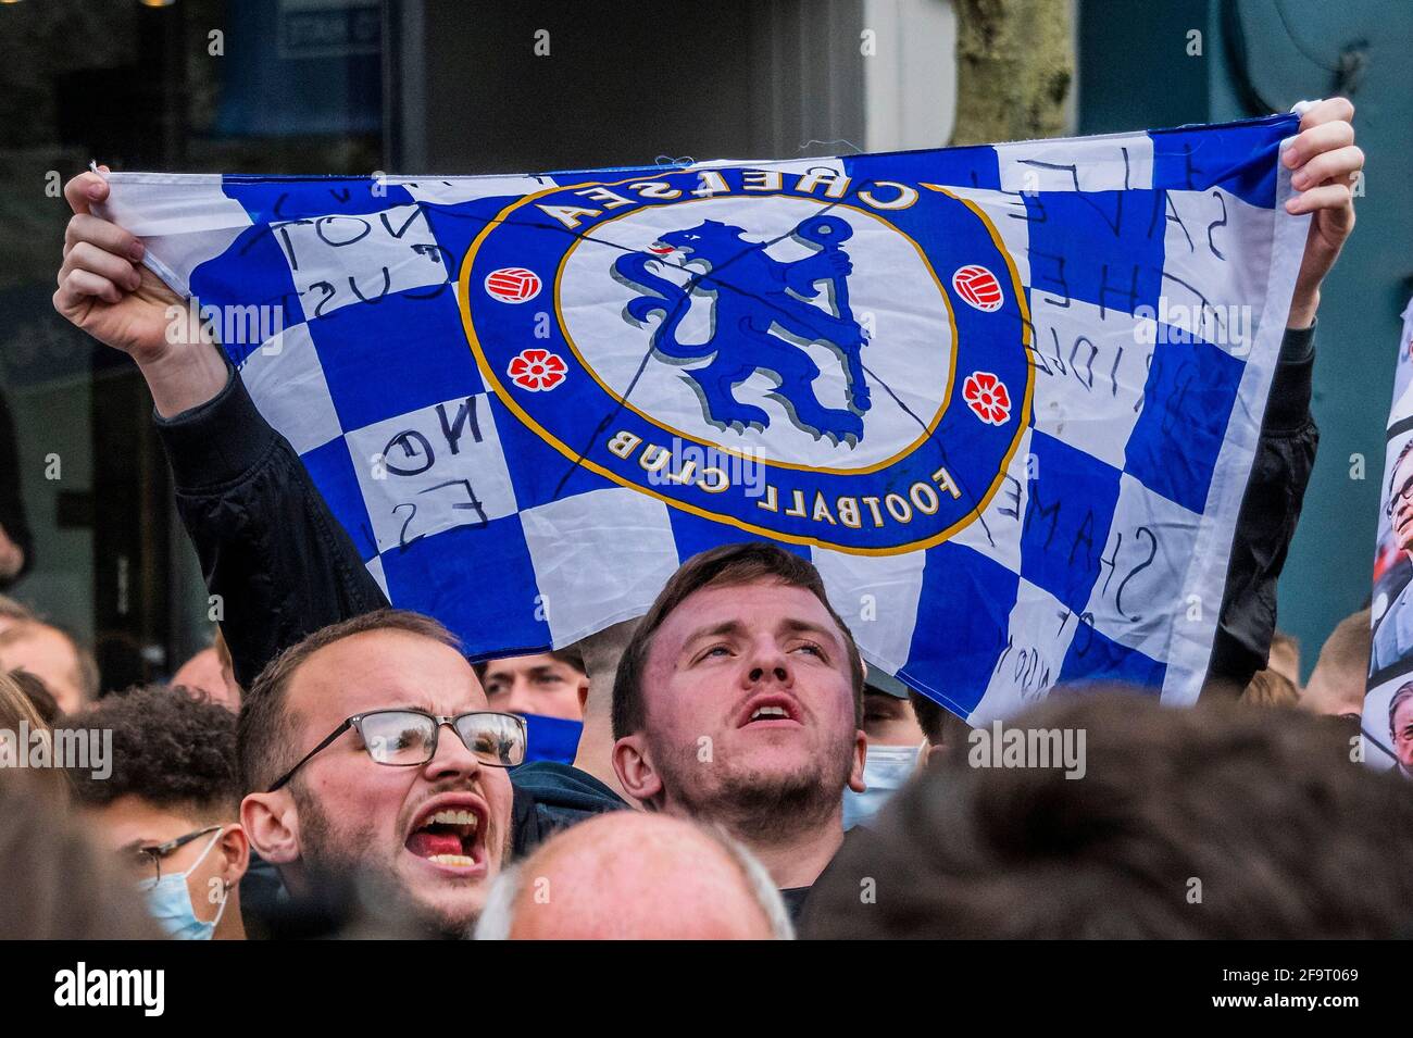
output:
[{"label": "blurred brown-haired head in the bottom left corner", "polygon": [[37,794],[30,772],[0,768],[0,939],[158,936],[112,856]]}]

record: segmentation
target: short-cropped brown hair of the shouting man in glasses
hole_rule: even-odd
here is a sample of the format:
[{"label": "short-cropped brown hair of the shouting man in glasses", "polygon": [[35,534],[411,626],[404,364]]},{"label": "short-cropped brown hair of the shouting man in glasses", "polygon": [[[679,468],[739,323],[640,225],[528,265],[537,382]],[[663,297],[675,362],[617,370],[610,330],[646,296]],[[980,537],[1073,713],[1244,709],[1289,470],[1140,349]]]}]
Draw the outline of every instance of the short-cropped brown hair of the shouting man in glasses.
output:
[{"label": "short-cropped brown hair of the shouting man in glasses", "polygon": [[455,634],[430,616],[406,609],[379,609],[350,620],[341,620],[321,627],[284,650],[266,664],[240,703],[240,717],[236,722],[236,758],[240,764],[240,784],[246,792],[267,789],[294,764],[297,747],[290,743],[295,724],[294,716],[285,709],[285,693],[295,671],[321,648],[369,631],[420,634],[461,651],[461,641]]}]

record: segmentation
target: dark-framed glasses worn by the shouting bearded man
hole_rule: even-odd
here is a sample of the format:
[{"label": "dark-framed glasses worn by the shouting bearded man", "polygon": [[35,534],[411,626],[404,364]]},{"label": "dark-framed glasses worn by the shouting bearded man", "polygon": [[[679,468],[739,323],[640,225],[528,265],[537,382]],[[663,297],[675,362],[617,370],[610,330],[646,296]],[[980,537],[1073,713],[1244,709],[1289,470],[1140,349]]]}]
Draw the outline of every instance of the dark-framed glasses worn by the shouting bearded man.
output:
[{"label": "dark-framed glasses worn by the shouting bearded man", "polygon": [[266,792],[274,792],[294,778],[295,771],[349,729],[357,732],[367,756],[377,764],[394,768],[425,764],[437,756],[437,739],[444,724],[456,733],[482,764],[513,768],[526,758],[526,723],[513,713],[472,710],[455,717],[441,717],[425,710],[369,710],[346,717]]}]

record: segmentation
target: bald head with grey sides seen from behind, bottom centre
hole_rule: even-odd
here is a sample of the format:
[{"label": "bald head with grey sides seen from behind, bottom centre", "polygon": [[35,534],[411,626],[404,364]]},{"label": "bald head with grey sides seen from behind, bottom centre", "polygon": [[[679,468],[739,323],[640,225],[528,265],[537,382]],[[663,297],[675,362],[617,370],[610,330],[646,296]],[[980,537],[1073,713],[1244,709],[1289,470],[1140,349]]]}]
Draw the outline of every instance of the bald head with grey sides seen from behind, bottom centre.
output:
[{"label": "bald head with grey sides seen from behind, bottom centre", "polygon": [[770,874],[716,829],[615,811],[567,829],[496,880],[476,938],[788,939]]}]

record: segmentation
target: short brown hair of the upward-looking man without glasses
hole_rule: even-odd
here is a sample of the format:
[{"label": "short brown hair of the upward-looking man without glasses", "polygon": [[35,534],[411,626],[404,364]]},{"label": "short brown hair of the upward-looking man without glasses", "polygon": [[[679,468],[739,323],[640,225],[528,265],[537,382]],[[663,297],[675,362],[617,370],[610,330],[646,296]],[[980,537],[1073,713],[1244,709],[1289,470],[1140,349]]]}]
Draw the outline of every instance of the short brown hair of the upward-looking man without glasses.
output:
[{"label": "short brown hair of the upward-looking man without glasses", "polygon": [[863,726],[863,661],[853,634],[844,619],[834,612],[824,590],[820,571],[808,559],[800,558],[770,541],[746,541],[726,544],[719,548],[692,555],[668,579],[653,602],[647,614],[633,631],[633,637],[619,660],[613,679],[613,737],[622,739],[633,732],[642,732],[647,723],[647,708],[643,702],[643,668],[653,648],[653,636],[667,617],[702,587],[735,587],[757,580],[774,580],[786,587],[803,587],[814,595],[828,610],[829,617],[844,633],[853,678],[853,723]]}]

